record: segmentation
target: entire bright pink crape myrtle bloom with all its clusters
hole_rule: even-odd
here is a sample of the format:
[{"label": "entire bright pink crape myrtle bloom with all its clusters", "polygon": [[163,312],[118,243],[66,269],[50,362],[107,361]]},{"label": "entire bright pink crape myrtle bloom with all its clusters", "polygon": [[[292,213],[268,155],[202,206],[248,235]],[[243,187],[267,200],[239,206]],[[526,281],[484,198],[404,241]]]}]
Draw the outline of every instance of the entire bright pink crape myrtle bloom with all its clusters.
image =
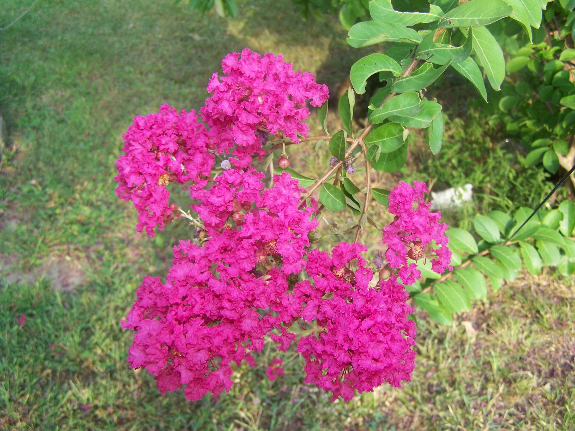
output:
[{"label": "entire bright pink crape myrtle bloom with all its clusters", "polygon": [[[384,230],[386,260],[380,256],[377,269],[389,265],[396,274],[374,277],[361,244],[313,248],[316,201],[300,205],[305,191],[288,172],[266,187],[252,161],[262,160],[268,134],[306,137],[306,102],[323,104],[327,87],[271,53],[244,49],[222,66],[224,76],[210,80],[203,123],[194,111],[164,105],[136,117],[124,134],[117,194],[138,210],[137,230],[153,236],[178,217],[166,188],[178,183],[189,190],[204,232],[203,240],[174,247],[165,281],[147,276],[137,289],[122,321],[135,331],[128,362],[153,374],[162,393],[184,386],[189,400],[217,397],[232,386],[233,363],[255,367],[252,352],[267,339],[284,352],[296,344],[305,381],[333,399],[384,382],[400,386],[415,365],[416,326],[400,278],[408,283],[419,274],[407,258],[434,243],[433,269],[442,272],[450,260],[446,226],[422,200],[427,190],[402,183],[389,196],[396,220]],[[214,166],[216,155],[224,160]],[[314,330],[298,340],[305,325]],[[282,361],[265,373],[281,377]]]}]

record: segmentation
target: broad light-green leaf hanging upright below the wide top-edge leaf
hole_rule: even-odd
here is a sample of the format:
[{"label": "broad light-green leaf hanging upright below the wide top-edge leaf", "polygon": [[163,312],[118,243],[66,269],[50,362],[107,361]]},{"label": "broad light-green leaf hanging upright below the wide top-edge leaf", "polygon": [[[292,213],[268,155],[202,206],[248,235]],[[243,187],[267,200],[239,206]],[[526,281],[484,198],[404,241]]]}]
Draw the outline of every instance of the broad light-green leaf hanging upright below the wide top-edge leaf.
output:
[{"label": "broad light-green leaf hanging upright below the wide top-edge leaf", "polygon": [[473,48],[493,90],[501,90],[501,83],[505,78],[505,58],[499,43],[488,29],[477,27],[473,32]]}]

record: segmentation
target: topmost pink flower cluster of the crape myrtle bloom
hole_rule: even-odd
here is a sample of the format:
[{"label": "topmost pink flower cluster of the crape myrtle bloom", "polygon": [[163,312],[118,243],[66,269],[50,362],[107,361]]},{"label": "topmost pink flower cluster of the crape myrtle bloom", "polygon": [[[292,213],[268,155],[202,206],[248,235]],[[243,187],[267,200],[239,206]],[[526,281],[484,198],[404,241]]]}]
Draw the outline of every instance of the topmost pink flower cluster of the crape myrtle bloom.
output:
[{"label": "topmost pink flower cluster of the crape myrtle bloom", "polygon": [[[248,166],[242,156],[247,153],[262,156],[262,136],[282,133],[298,142],[298,134],[307,136],[309,116],[305,103],[322,105],[328,88],[317,84],[310,73],[294,72],[292,64],[272,53],[259,54],[244,49],[232,53],[222,61],[225,75],[212,75],[208,91],[213,95],[201,109],[202,118],[209,125],[211,144],[218,151],[227,151],[237,144],[236,167]],[[265,140],[263,141],[265,143]],[[246,164],[248,163],[248,164]]]}]

